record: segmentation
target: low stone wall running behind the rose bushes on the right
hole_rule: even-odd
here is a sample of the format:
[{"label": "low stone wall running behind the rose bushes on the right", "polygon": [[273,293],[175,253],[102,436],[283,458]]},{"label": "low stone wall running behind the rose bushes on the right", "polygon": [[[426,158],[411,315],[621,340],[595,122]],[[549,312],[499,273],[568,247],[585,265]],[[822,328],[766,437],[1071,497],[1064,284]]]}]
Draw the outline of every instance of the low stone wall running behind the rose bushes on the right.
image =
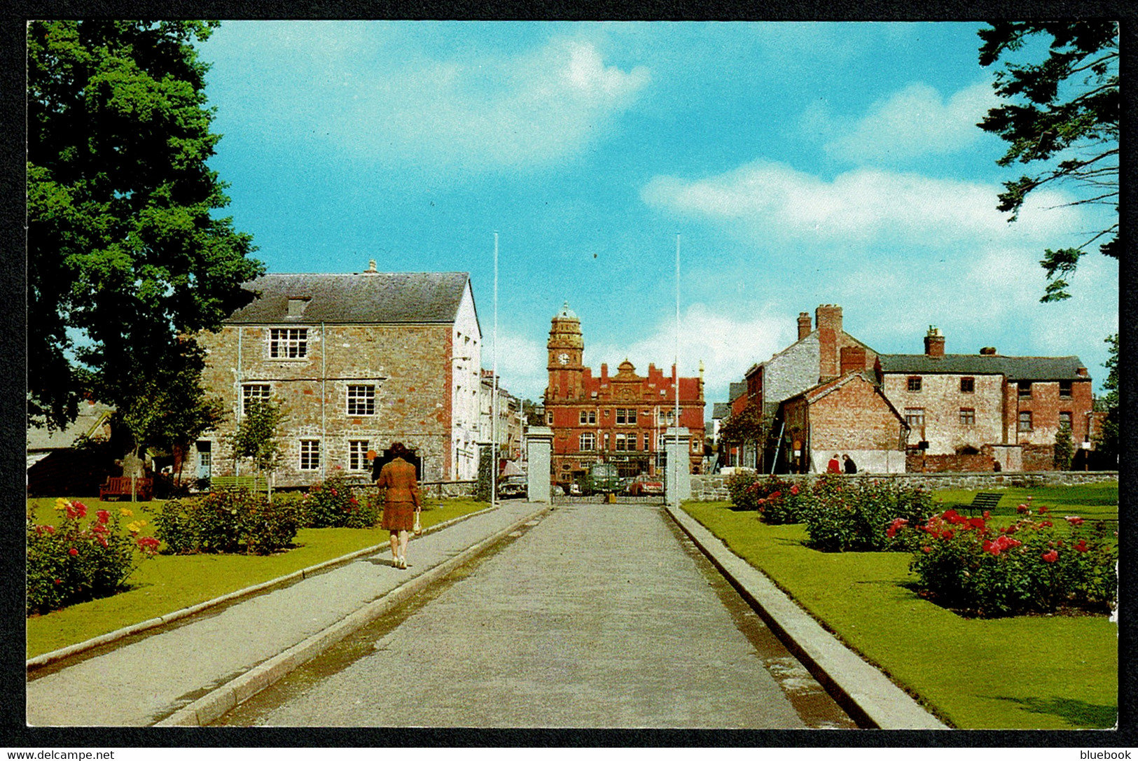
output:
[{"label": "low stone wall running behind the rose bushes on the right", "polygon": [[[692,499],[698,502],[725,502],[726,475],[692,475]],[[811,483],[815,473],[802,475],[781,474],[778,478],[798,483]],[[892,480],[898,486],[922,487],[930,490],[962,489],[984,490],[1008,487],[1070,486],[1073,483],[1105,483],[1118,481],[1118,471],[1038,471],[1030,473],[866,473],[846,475],[850,479]]]}]

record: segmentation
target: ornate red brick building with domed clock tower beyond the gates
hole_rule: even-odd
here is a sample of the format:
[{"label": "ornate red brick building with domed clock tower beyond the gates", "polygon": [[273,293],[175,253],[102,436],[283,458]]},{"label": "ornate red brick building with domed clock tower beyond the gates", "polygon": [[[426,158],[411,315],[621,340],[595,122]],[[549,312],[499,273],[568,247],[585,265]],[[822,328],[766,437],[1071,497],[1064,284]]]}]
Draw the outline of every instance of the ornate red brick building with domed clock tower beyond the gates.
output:
[{"label": "ornate red brick building with domed clock tower beyond the gates", "polygon": [[562,487],[580,482],[594,463],[610,463],[625,478],[663,472],[663,435],[676,424],[691,432],[688,466],[700,472],[703,456],[703,379],[674,379],[654,364],[637,375],[625,359],[617,374],[601,374],[583,363],[580,320],[566,304],[550,328],[545,419],[553,430],[553,480]]}]

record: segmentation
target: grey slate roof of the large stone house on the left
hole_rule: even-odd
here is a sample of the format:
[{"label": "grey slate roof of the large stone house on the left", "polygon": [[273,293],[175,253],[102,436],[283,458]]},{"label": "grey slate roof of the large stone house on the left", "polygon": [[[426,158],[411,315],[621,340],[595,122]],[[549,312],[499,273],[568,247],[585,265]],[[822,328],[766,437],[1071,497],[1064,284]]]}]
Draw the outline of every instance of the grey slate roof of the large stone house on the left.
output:
[{"label": "grey slate roof of the large stone house on the left", "polygon": [[[228,324],[451,323],[470,280],[465,272],[267,274],[242,286],[258,293]],[[289,299],[308,299],[289,316]]]}]

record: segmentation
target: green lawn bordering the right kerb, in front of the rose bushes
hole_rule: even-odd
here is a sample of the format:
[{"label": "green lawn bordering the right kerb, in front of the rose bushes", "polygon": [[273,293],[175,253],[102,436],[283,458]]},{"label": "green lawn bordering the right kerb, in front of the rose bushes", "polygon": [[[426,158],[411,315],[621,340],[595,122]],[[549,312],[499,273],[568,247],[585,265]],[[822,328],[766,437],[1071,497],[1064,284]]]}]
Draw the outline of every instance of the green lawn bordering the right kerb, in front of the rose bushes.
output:
[{"label": "green lawn bordering the right kerb, in front of the rose bushes", "polygon": [[904,586],[914,579],[907,554],[816,552],[803,526],[766,526],[727,505],[684,510],[947,723],[1114,726],[1118,628],[1107,617],[963,619]]}]

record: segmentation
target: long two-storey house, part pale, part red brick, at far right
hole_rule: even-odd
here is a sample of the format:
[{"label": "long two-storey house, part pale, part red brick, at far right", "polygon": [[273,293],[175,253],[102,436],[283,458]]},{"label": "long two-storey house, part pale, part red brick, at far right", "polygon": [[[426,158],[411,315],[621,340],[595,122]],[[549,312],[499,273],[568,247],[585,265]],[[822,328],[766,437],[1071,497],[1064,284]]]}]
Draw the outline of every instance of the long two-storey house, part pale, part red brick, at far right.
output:
[{"label": "long two-storey house, part pale, part red brick, at far right", "polygon": [[937,328],[924,344],[924,354],[880,355],[876,367],[912,429],[920,469],[1050,470],[1064,423],[1077,448],[1090,447],[1091,379],[1079,357],[1011,357],[990,347],[945,354]]}]

